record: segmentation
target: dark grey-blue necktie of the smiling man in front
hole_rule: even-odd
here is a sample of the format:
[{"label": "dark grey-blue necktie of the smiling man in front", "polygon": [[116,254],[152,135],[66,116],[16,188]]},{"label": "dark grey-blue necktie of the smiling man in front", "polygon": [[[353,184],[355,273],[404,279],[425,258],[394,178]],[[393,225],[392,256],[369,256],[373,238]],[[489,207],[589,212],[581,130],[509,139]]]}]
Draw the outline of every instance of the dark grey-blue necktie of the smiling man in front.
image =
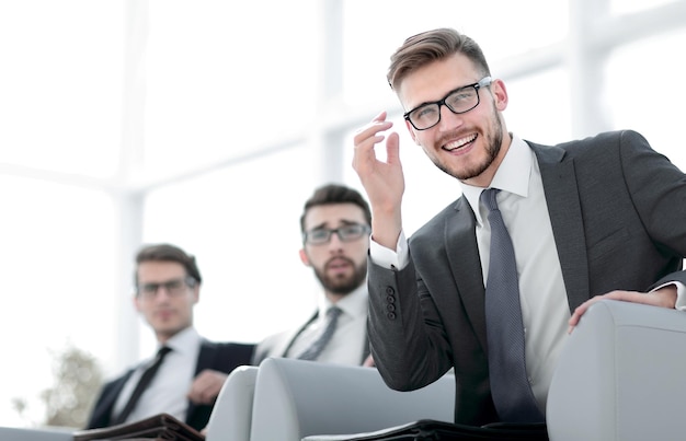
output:
[{"label": "dark grey-blue necktie of the smiling man in front", "polygon": [[491,225],[491,253],[485,287],[491,395],[501,420],[539,422],[544,421],[544,416],[536,405],[526,373],[519,280],[512,240],[495,201],[499,192],[496,188],[489,188],[481,194],[481,201],[489,210]]}]

